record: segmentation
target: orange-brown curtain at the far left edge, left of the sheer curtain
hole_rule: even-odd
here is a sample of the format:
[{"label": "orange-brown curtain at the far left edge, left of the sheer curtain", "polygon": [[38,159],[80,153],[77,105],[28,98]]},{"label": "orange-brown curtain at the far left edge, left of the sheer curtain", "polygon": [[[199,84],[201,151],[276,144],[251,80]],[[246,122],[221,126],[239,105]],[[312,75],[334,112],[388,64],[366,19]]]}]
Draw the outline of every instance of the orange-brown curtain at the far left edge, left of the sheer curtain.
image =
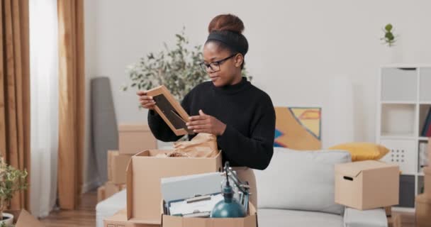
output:
[{"label": "orange-brown curtain at the far left edge, left of the sheer curtain", "polygon": [[[1,0],[0,13],[0,155],[30,170],[28,0]],[[30,189],[13,196],[11,209],[29,207]]]}]

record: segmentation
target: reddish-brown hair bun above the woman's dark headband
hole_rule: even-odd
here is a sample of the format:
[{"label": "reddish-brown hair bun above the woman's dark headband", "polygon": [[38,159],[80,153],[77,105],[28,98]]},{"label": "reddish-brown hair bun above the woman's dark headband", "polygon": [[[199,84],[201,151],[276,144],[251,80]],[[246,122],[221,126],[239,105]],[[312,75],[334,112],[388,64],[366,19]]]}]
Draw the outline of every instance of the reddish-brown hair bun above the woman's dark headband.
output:
[{"label": "reddish-brown hair bun above the woman's dark headband", "polygon": [[244,23],[235,15],[221,14],[215,16],[208,25],[208,33],[213,31],[233,31],[241,34],[244,31]]}]

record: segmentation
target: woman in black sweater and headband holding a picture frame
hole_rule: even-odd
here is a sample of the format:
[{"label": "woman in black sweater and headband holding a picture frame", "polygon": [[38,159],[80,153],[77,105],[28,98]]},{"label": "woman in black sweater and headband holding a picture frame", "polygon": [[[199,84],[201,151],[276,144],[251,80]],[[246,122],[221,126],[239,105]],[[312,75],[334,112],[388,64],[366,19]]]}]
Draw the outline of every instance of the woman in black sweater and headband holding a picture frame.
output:
[{"label": "woman in black sweater and headband holding a picture frame", "polygon": [[[229,161],[242,181],[250,184],[250,201],[257,207],[256,182],[252,169],[264,170],[272,158],[275,111],[271,98],[241,76],[247,39],[240,18],[230,14],[213,18],[203,46],[203,62],[211,82],[203,82],[186,94],[181,106],[189,114],[189,129],[216,135],[223,163]],[[155,111],[155,101],[142,91],[140,103],[148,114],[155,138],[176,141],[180,137]],[[196,134],[195,134],[196,135]],[[189,139],[194,135],[189,135]]]}]

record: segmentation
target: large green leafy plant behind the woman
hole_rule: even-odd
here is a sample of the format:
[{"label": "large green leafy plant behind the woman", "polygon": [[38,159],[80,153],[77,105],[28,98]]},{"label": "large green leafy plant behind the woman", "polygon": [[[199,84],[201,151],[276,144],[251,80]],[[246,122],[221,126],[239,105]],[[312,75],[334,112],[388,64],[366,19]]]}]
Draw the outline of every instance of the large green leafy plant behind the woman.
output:
[{"label": "large green leafy plant behind the woman", "polygon": [[[164,85],[181,101],[196,85],[205,82],[208,75],[199,66],[203,59],[202,45],[190,47],[184,31],[185,28],[181,33],[175,34],[175,48],[171,49],[164,43],[164,50],[158,53],[150,52],[138,62],[129,65],[125,72],[131,84],[125,85],[123,90],[126,91],[128,87],[149,90]],[[252,77],[247,76],[245,67],[242,76],[252,80]]]}]

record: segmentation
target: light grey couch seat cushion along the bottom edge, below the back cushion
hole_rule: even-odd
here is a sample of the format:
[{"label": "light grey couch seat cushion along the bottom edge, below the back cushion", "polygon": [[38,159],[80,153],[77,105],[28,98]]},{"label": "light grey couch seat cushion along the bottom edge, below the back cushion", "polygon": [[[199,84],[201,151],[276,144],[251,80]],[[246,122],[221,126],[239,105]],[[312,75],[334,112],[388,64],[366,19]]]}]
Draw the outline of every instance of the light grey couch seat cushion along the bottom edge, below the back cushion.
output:
[{"label": "light grey couch seat cushion along the bottom edge, below the back cushion", "polygon": [[342,227],[342,216],[313,211],[258,209],[259,227]]}]

